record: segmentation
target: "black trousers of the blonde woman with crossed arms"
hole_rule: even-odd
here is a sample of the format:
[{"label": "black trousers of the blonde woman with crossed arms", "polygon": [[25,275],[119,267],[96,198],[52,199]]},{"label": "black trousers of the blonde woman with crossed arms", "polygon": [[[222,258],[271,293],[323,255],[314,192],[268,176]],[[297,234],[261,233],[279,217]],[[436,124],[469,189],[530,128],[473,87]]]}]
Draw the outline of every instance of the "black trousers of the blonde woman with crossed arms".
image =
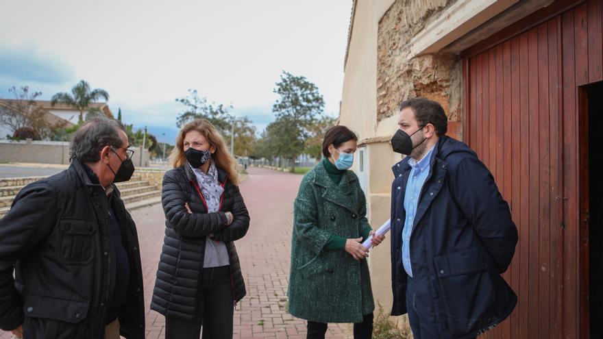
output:
[{"label": "black trousers of the blonde woman with crossed arms", "polygon": [[203,339],[232,338],[232,284],[230,266],[204,268],[197,314],[192,321],[165,318],[166,339],[199,338],[203,326]]}]

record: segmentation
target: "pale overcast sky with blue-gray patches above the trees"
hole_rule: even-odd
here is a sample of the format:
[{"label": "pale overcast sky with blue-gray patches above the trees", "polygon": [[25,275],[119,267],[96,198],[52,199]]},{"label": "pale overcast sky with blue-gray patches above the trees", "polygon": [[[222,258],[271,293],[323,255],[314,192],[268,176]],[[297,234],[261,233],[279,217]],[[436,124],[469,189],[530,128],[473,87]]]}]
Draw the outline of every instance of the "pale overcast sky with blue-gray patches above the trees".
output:
[{"label": "pale overcast sky with blue-gray patches above the trees", "polygon": [[0,97],[27,85],[50,99],[85,79],[125,123],[173,143],[184,107],[174,99],[188,88],[260,131],[288,71],[317,84],[336,116],[351,10],[352,0],[3,1]]}]

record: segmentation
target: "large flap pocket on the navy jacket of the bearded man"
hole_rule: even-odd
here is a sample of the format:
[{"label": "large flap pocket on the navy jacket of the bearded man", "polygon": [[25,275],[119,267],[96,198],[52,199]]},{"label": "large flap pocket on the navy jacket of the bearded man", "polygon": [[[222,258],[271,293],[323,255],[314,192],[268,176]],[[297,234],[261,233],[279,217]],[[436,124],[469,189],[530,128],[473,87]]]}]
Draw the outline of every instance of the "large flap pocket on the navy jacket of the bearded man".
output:
[{"label": "large flap pocket on the navy jacket of the bearded man", "polygon": [[489,318],[495,290],[481,247],[434,258],[451,334],[468,334]]}]

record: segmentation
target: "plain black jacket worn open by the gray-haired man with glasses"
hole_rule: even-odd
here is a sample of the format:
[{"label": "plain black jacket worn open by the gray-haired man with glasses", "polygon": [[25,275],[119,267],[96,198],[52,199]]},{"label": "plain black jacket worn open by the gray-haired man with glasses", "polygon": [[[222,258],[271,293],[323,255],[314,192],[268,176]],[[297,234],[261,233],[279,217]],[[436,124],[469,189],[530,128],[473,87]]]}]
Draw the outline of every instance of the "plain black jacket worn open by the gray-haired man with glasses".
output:
[{"label": "plain black jacket worn open by the gray-haired man with glasses", "polygon": [[[25,186],[0,219],[0,328],[25,338],[103,338],[113,283],[111,204],[130,260],[121,335],[145,338],[143,274],[136,226],[114,187],[110,199],[82,164]],[[16,279],[13,279],[13,268]]]}]

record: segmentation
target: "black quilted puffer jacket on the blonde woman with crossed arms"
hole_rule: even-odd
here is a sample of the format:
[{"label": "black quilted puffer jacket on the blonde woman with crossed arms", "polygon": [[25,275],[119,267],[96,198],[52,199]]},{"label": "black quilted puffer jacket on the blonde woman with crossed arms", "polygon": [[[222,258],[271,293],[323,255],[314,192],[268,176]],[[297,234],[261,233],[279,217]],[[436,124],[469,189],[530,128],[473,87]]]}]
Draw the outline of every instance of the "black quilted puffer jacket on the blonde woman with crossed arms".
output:
[{"label": "black quilted puffer jacket on the blonde woman with crossed arms", "polygon": [[[193,319],[203,271],[206,237],[225,242],[230,257],[233,303],[245,297],[245,282],[234,240],[243,238],[249,228],[249,213],[241,191],[218,168],[218,180],[224,187],[219,212],[208,213],[201,199],[195,173],[188,163],[165,173],[162,205],[165,212],[165,238],[157,271],[151,310],[164,316]],[[184,204],[188,203],[192,214]],[[225,212],[234,221],[225,226]]]}]

